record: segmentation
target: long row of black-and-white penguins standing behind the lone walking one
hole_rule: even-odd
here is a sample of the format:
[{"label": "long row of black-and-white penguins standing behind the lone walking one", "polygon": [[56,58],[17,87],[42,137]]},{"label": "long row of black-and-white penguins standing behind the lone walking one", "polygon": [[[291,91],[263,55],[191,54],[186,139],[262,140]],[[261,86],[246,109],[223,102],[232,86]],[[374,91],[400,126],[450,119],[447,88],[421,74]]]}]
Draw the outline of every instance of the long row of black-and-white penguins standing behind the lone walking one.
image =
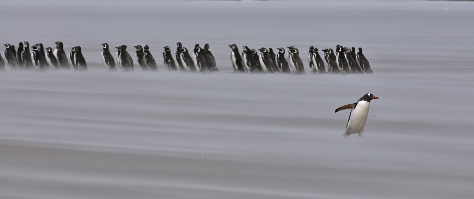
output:
[{"label": "long row of black-and-white penguins standing behind the lone walking one", "polygon": [[[47,47],[44,51],[43,44],[37,43],[31,46],[27,41],[18,43],[18,48],[14,45],[4,44],[6,46],[4,55],[6,63],[11,69],[30,69],[30,70],[48,70],[48,69],[73,69],[87,70],[87,63],[82,55],[81,47],[71,48],[69,55],[66,55],[64,44],[60,41],[55,42],[56,47],[53,50]],[[216,59],[210,51],[209,44],[201,48],[196,44],[192,55],[181,42],[176,43],[176,51],[173,57],[170,46],[165,46],[163,51],[163,63],[170,71],[185,72],[214,72],[219,71],[216,66]],[[115,59],[109,50],[108,43],[102,43],[102,61],[108,70],[133,71],[134,61],[127,52],[127,45],[115,47],[117,52]],[[142,70],[158,70],[157,63],[149,51],[149,46],[134,46],[136,59]],[[295,73],[305,74],[304,64],[299,56],[299,50],[294,46],[289,46],[287,55],[285,48],[277,48],[275,54],[272,48],[260,48],[258,54],[255,49],[243,46],[240,53],[236,44],[231,44],[231,63],[236,73]],[[347,48],[341,45],[336,46],[334,52],[332,48],[323,49],[324,60],[319,55],[318,48],[309,47],[308,62],[311,72],[315,74],[363,74],[372,73],[369,61],[362,54],[362,48],[359,47],[355,52],[355,47]],[[176,61],[175,59],[176,58]],[[0,56],[0,70],[5,71],[5,61]]]}]

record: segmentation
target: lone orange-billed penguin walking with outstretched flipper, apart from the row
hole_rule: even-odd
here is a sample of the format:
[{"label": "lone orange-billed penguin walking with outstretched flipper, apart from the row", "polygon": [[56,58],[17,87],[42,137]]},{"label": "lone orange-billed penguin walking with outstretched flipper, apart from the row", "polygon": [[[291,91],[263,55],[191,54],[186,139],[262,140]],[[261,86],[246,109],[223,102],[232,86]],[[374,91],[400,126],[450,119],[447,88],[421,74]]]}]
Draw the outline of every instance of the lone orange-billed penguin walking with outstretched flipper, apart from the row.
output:
[{"label": "lone orange-billed penguin walking with outstretched flipper, apart from the row", "polygon": [[372,93],[367,93],[356,103],[341,106],[334,111],[334,113],[336,113],[340,110],[351,109],[349,120],[347,121],[346,125],[346,131],[343,134],[344,137],[357,133],[359,134],[359,138],[362,138],[365,122],[367,121],[367,116],[369,115],[370,100],[373,99],[379,98],[375,97]]}]

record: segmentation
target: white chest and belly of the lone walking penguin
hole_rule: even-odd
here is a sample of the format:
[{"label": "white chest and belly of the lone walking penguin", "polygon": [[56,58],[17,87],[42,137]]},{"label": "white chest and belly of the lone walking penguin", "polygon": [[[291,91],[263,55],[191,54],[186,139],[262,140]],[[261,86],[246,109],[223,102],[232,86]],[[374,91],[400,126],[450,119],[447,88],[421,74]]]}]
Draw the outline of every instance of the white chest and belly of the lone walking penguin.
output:
[{"label": "white chest and belly of the lone walking penguin", "polygon": [[367,101],[360,101],[357,106],[351,110],[349,121],[347,122],[346,133],[362,133],[365,128],[365,122],[369,115],[369,105]]}]

